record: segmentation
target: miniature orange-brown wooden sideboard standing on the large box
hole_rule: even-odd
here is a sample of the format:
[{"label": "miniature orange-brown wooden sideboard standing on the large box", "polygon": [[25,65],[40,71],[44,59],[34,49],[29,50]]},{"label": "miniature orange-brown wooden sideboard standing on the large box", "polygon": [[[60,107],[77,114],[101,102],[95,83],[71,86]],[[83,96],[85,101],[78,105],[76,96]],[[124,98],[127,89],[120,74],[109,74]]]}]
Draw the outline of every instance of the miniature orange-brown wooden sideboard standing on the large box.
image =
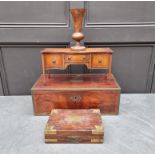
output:
[{"label": "miniature orange-brown wooden sideboard standing on the large box", "polygon": [[46,48],[41,51],[43,74],[48,69],[66,69],[71,64],[84,64],[88,69],[107,69],[111,74],[112,50],[110,48]]}]

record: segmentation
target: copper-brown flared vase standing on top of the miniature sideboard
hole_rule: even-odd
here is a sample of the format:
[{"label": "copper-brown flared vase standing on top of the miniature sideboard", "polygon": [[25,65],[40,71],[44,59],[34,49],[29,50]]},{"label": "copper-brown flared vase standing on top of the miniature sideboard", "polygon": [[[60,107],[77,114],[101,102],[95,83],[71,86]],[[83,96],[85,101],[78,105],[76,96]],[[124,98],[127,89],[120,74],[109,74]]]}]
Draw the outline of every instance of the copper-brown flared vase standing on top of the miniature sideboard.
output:
[{"label": "copper-brown flared vase standing on top of the miniature sideboard", "polygon": [[76,45],[71,48],[74,50],[83,50],[85,47],[80,45],[80,41],[84,39],[84,34],[81,30],[85,9],[71,9],[71,14],[74,22],[74,33],[72,34],[72,38],[76,41]]}]

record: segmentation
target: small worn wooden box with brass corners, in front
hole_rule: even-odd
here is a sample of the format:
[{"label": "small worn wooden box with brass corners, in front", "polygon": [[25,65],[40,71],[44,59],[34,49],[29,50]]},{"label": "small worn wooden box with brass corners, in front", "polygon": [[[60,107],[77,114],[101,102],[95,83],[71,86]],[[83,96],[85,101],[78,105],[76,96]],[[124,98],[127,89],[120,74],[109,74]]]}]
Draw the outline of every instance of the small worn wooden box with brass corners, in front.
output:
[{"label": "small worn wooden box with brass corners, in front", "polygon": [[46,143],[103,143],[100,110],[54,109],[44,133]]}]

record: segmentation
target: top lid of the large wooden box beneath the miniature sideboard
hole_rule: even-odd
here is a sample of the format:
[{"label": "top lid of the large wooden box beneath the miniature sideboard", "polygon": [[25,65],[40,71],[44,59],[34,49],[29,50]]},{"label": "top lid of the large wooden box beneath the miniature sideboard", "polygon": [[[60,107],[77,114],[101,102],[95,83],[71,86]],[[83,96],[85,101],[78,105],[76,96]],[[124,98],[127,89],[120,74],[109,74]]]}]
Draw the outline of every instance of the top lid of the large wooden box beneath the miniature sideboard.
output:
[{"label": "top lid of the large wooden box beneath the miniature sideboard", "polygon": [[[61,81],[61,82],[60,82]],[[112,75],[105,74],[50,74],[41,75],[32,91],[49,90],[118,90],[120,86]]]}]

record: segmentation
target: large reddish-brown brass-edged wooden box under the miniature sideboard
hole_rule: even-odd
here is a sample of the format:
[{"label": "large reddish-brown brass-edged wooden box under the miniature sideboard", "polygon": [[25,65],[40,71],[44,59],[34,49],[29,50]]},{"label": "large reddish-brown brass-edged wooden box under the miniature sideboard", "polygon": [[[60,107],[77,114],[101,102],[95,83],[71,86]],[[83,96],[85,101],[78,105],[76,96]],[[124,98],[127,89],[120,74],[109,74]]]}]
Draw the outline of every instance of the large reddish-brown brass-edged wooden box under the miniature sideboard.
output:
[{"label": "large reddish-brown brass-edged wooden box under the miniature sideboard", "polygon": [[35,115],[48,115],[55,108],[99,108],[102,114],[118,114],[120,87],[113,75],[42,75],[32,96]]}]

